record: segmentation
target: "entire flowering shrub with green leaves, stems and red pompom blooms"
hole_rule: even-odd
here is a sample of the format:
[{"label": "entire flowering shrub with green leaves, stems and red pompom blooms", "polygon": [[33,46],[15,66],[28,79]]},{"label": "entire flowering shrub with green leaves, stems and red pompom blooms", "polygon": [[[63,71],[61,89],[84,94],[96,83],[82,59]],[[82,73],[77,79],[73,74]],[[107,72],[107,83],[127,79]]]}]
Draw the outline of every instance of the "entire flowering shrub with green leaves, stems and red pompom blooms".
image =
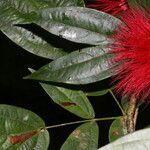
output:
[{"label": "entire flowering shrub with green leaves, stems and red pompom blooms", "polygon": [[[24,50],[49,59],[38,70],[29,68],[24,79],[39,82],[55,103],[85,120],[45,126],[28,110],[0,105],[0,149],[47,150],[48,129],[83,123],[61,150],[96,150],[97,121],[104,120],[113,120],[110,144],[99,150],[149,149],[150,129],[135,132],[139,106],[150,95],[149,7],[149,0],[1,0],[0,30]],[[113,88],[110,83],[87,92],[80,86],[110,78]],[[107,93],[122,114],[95,118],[89,98]]]}]

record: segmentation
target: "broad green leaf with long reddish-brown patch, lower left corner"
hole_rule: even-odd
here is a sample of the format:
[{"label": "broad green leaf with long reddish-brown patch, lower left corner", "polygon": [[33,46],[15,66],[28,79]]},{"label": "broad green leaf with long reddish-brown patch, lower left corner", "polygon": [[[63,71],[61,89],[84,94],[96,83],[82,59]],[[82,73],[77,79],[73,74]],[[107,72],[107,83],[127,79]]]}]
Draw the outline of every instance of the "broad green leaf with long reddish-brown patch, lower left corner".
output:
[{"label": "broad green leaf with long reddish-brown patch, lower left corner", "polygon": [[9,105],[0,105],[1,150],[47,150],[49,133],[41,130],[43,120],[31,111]]}]

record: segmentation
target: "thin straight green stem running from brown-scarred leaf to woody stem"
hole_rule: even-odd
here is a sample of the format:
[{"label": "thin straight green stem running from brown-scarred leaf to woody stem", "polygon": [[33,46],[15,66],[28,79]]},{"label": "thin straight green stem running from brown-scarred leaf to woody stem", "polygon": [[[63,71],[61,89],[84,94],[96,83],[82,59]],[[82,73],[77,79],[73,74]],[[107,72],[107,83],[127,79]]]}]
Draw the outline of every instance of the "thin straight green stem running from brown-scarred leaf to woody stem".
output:
[{"label": "thin straight green stem running from brown-scarred leaf to woody stem", "polygon": [[62,124],[58,124],[58,125],[47,126],[47,127],[45,127],[44,129],[51,129],[51,128],[63,127],[63,126],[68,126],[68,125],[73,125],[73,124],[86,123],[86,122],[93,122],[93,121],[114,120],[114,119],[118,119],[118,118],[120,118],[120,117],[122,117],[122,116],[108,117],[108,118],[95,118],[95,119],[90,119],[90,120],[74,121],[74,122],[62,123]]}]

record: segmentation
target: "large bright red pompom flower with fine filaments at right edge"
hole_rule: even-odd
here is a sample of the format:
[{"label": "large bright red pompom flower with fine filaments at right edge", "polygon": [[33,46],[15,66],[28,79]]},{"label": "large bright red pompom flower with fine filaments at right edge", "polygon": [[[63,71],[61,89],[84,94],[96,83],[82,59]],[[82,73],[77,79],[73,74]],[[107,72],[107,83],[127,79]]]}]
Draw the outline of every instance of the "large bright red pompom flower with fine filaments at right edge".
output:
[{"label": "large bright red pompom flower with fine filaments at right edge", "polygon": [[111,52],[113,63],[121,64],[115,71],[116,90],[136,99],[148,100],[150,96],[150,14],[132,9],[122,16],[113,35]]}]

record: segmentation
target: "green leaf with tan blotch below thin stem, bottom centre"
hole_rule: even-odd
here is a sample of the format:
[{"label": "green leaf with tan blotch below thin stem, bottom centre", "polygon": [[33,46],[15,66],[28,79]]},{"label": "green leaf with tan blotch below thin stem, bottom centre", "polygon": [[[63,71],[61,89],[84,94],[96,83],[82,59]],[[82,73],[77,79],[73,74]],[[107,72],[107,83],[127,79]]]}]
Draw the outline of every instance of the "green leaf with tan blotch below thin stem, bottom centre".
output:
[{"label": "green leaf with tan blotch below thin stem, bottom centre", "polygon": [[74,130],[61,150],[96,150],[98,147],[98,125],[85,123]]}]

